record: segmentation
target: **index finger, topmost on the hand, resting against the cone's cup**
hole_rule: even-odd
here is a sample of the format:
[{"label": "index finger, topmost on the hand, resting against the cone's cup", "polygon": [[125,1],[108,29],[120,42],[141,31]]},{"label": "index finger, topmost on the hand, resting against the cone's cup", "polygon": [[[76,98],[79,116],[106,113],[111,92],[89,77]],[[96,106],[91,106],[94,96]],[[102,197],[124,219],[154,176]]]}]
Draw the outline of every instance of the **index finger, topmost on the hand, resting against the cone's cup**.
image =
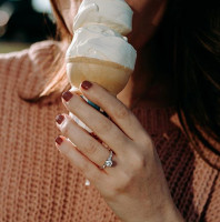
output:
[{"label": "index finger, topmost on the hand, resting against the cone's cup", "polygon": [[[84,81],[86,82],[86,81]],[[139,140],[146,135],[146,131],[133,115],[133,113],[114,95],[109,93],[106,89],[99,84],[92,82],[92,85],[83,88],[81,84],[82,93],[94,104],[104,110],[111,120],[132,140]],[[139,133],[137,133],[139,132]]]}]

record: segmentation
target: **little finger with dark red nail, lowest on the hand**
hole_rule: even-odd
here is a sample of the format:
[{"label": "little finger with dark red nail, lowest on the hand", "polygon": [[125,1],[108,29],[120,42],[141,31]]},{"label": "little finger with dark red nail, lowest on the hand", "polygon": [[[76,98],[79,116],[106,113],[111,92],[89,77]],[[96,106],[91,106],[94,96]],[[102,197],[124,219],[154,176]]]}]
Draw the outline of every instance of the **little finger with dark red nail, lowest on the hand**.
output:
[{"label": "little finger with dark red nail, lowest on the hand", "polygon": [[107,176],[102,171],[100,171],[89,159],[81,154],[77,148],[64,137],[59,137],[56,140],[56,145],[59,151],[79,170],[81,170],[84,175],[91,181],[96,181],[96,185],[104,180]]}]

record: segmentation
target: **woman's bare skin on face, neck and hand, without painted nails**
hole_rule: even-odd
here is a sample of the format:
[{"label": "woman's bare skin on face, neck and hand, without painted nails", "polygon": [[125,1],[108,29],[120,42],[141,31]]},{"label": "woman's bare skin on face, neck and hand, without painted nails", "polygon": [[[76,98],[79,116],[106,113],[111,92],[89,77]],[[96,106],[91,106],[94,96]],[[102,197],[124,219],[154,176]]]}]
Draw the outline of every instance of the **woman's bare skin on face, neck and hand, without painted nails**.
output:
[{"label": "woman's bare skin on face, neck and hand, without painted nails", "polygon": [[[149,85],[152,69],[150,65],[142,69],[142,61],[147,63],[150,54],[150,50],[143,50],[143,46],[148,44],[157,30],[167,1],[127,0],[127,2],[134,11],[133,31],[129,34],[129,41],[138,49],[137,68],[132,78],[118,98],[94,82],[89,90],[80,88],[80,91],[101,107],[110,119],[87,104],[77,91],[71,90],[72,98],[69,101],[62,99],[67,110],[77,115],[111,148],[114,152],[114,165],[100,170],[99,167],[109,157],[108,149],[67,114],[63,114],[64,120],[61,123],[57,123],[63,141],[56,144],[61,154],[84,173],[122,221],[183,221],[171,199],[153,142],[129,110],[134,98],[141,95],[144,95],[144,102],[150,104],[144,85]],[[81,1],[58,0],[70,31],[72,31],[72,17],[80,3]],[[142,31],[143,27],[149,28],[148,32]],[[151,105],[161,103],[160,99],[162,100],[154,97],[153,100],[157,102]]]}]

